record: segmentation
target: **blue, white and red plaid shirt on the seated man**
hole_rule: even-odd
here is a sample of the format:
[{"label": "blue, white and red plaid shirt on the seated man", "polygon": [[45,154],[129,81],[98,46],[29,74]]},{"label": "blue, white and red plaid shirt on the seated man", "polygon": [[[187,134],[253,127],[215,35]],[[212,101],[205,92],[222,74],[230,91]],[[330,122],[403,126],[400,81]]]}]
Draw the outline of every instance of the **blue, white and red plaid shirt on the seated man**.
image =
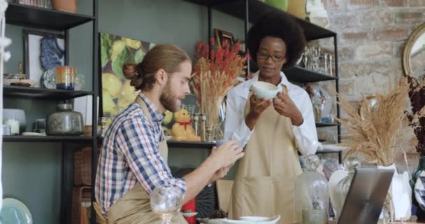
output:
[{"label": "blue, white and red plaid shirt on the seated man", "polygon": [[96,201],[103,214],[110,206],[141,183],[147,193],[157,186],[175,186],[186,191],[183,179],[174,179],[161,155],[159,142],[164,139],[160,113],[143,94],[139,94],[152,117],[152,123],[138,104],[132,103],[115,116],[106,132],[96,173]]}]

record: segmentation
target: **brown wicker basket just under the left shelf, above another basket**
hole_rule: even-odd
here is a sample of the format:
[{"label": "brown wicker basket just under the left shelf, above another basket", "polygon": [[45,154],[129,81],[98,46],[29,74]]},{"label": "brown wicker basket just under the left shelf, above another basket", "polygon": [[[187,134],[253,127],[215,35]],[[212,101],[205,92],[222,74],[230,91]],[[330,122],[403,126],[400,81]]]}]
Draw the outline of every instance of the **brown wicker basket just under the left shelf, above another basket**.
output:
[{"label": "brown wicker basket just under the left shelf, above another basket", "polygon": [[[100,150],[96,152],[99,158]],[[97,159],[96,158],[96,159]],[[75,186],[92,185],[92,148],[80,148],[74,153],[74,184]]]}]

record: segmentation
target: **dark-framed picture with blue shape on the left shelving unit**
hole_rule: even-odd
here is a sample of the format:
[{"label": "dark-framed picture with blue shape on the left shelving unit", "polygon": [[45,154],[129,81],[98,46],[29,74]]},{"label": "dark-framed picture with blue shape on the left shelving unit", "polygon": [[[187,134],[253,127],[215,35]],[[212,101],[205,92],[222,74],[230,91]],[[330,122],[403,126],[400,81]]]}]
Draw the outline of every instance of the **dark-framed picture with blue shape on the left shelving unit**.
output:
[{"label": "dark-framed picture with blue shape on the left shelving unit", "polygon": [[66,63],[65,35],[58,31],[24,29],[24,73],[40,80],[44,71]]}]

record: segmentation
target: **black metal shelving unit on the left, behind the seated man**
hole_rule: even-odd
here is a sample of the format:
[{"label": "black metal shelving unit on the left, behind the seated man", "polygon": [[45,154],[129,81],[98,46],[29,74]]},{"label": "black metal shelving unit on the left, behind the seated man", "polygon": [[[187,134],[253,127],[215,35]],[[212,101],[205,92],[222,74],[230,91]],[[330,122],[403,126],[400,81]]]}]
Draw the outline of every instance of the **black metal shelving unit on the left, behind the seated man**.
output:
[{"label": "black metal shelving unit on the left, behind the seated man", "polygon": [[[34,99],[34,100],[65,100],[76,97],[88,96],[93,97],[92,100],[92,127],[97,127],[97,97],[99,96],[99,48],[98,34],[98,0],[93,0],[92,15],[82,15],[78,13],[67,13],[58,10],[38,8],[35,6],[27,6],[19,3],[8,3],[6,10],[6,23],[10,25],[18,25],[22,27],[47,29],[55,31],[63,31],[66,44],[69,45],[69,29],[92,22],[92,43],[93,43],[93,66],[92,91],[71,91],[71,90],[49,90],[36,87],[20,87],[3,85],[3,97],[10,99]],[[67,47],[67,49],[69,49]],[[69,52],[67,52],[68,54]],[[69,64],[69,57],[66,55],[66,64]],[[71,137],[71,136],[4,136],[3,142],[59,142],[62,143],[62,189],[61,189],[61,214],[60,223],[71,223],[71,218],[66,214],[71,214],[71,193],[73,186],[67,186],[66,181],[73,179],[68,174],[69,162],[73,160],[72,153],[66,152],[66,144],[85,144],[97,148],[98,138],[96,129],[92,130],[93,137]],[[96,174],[96,156],[92,150],[92,186],[94,186],[94,176]],[[71,190],[70,190],[71,189]],[[92,201],[94,201],[94,188],[92,188]],[[94,208],[91,214],[95,214]],[[67,219],[68,218],[68,219]],[[92,224],[96,223],[96,216],[92,216]]]}]

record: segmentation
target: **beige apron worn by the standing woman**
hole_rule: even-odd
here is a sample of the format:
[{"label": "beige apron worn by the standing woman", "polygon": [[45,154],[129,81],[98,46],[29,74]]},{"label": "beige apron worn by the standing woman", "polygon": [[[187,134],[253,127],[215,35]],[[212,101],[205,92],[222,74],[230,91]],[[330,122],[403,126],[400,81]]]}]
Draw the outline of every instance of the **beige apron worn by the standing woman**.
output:
[{"label": "beige apron worn by the standing woman", "polygon": [[[245,116],[249,110],[248,98]],[[240,159],[229,217],[280,215],[280,224],[296,223],[294,183],[301,173],[291,120],[270,106],[261,114]]]}]

